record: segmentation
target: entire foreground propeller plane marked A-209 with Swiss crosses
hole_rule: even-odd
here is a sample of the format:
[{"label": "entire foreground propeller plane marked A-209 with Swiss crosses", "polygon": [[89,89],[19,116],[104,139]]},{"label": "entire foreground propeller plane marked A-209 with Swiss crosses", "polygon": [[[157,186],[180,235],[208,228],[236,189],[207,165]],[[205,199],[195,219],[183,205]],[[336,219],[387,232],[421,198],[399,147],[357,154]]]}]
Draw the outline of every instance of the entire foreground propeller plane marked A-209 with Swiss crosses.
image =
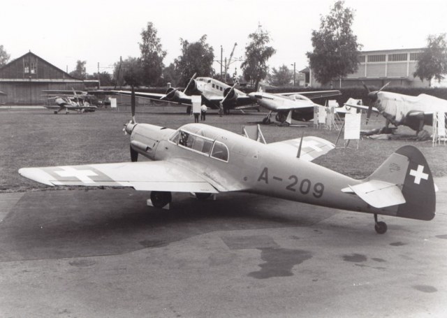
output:
[{"label": "entire foreground propeller plane marked A-209 with Swiss crosses", "polygon": [[[205,124],[168,129],[132,120],[131,161],[117,164],[21,168],[20,175],[45,185],[133,187],[151,191],[155,207],[172,201],[171,192],[211,194],[244,191],[286,200],[374,215],[430,220],[435,212],[432,173],[423,154],[404,146],[364,180],[312,163],[335,147],[317,137],[261,143]],[[137,162],[138,154],[152,161]]]}]

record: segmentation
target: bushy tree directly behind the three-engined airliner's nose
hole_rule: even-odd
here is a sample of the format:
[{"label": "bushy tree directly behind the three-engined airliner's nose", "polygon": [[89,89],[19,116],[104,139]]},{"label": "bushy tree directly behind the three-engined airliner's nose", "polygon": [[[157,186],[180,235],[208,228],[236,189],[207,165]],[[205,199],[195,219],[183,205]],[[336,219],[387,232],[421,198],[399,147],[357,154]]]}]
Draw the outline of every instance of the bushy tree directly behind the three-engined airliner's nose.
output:
[{"label": "bushy tree directly behind the three-engined airliner's nose", "polygon": [[174,62],[179,73],[179,81],[185,85],[194,73],[197,73],[198,76],[211,77],[214,75],[214,68],[212,68],[214,50],[206,41],[206,34],[199,41],[193,43],[180,38],[182,55]]}]

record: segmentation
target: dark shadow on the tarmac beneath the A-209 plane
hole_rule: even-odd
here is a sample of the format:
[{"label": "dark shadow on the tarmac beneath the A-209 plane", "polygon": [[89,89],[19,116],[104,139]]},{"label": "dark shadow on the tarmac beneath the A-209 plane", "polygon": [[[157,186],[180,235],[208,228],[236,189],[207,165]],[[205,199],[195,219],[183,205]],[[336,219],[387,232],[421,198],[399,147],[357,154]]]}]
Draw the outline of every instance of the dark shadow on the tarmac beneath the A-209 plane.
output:
[{"label": "dark shadow on the tarmac beneath the A-209 plane", "polygon": [[171,210],[147,207],[131,189],[35,191],[0,224],[0,261],[122,254],[211,231],[310,226],[336,210],[252,194],[217,201],[174,196]]}]

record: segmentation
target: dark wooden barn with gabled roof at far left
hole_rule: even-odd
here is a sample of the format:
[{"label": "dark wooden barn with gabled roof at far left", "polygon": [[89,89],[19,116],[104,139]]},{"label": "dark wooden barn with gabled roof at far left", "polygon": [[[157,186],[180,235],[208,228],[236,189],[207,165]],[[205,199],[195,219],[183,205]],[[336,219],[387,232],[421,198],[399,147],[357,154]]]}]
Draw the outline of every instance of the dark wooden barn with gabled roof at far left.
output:
[{"label": "dark wooden barn with gabled roof at far left", "polygon": [[2,103],[8,105],[44,105],[43,90],[85,90],[84,80],[74,78],[32,52],[0,68]]}]

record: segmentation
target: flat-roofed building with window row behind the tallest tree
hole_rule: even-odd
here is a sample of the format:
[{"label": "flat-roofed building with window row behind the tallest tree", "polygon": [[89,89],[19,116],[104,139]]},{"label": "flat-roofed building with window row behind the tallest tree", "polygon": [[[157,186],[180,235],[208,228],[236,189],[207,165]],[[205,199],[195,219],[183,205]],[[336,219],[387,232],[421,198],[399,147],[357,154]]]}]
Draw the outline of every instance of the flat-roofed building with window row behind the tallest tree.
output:
[{"label": "flat-roofed building with window row behind the tallest tree", "polygon": [[[382,87],[387,82],[390,87],[429,87],[427,80],[413,77],[421,52],[423,48],[362,51],[357,72],[342,78],[341,82],[334,80],[333,87],[340,87],[340,84],[341,87],[359,87],[362,82],[367,87]],[[312,76],[312,70],[309,71],[309,84],[321,87]]]}]

